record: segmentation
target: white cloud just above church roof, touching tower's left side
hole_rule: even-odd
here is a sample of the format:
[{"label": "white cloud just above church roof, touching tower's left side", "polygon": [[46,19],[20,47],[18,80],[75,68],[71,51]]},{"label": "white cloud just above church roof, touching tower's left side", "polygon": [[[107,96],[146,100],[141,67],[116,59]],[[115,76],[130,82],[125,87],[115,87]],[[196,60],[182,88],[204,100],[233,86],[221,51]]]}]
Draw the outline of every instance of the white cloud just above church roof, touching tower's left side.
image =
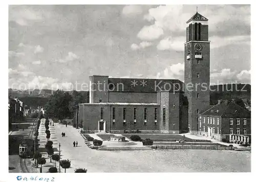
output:
[{"label": "white cloud just above church roof, touching tower's left side", "polygon": [[157,74],[157,78],[184,80],[184,63],[167,66],[163,72]]}]

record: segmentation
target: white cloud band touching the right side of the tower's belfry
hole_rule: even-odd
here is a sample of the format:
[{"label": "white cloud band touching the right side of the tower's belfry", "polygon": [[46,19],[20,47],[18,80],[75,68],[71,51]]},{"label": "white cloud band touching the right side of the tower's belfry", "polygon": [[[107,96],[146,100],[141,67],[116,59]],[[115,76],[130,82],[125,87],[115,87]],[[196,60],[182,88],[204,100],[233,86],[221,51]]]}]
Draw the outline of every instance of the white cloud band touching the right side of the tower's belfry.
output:
[{"label": "white cloud band touching the right side of the tower's belfry", "polygon": [[239,35],[239,36],[212,36],[209,37],[209,40],[211,41],[210,48],[219,48],[224,47],[229,44],[241,44],[246,43],[250,45],[250,36],[249,35]]}]

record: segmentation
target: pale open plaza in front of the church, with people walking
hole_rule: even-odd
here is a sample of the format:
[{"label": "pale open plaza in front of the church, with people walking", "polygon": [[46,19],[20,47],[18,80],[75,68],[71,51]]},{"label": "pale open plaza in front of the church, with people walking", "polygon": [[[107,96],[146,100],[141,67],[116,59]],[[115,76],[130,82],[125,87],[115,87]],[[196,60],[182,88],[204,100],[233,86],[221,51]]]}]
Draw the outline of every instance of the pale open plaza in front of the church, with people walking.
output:
[{"label": "pale open plaza in front of the church, with people walking", "polygon": [[[42,123],[44,121],[45,119],[41,120]],[[55,153],[58,153],[60,143],[61,160],[71,161],[71,168],[67,169],[67,173],[73,173],[76,168],[85,168],[88,172],[250,172],[251,170],[250,151],[100,151],[90,149],[84,143],[79,130],[72,126],[66,127],[54,123],[54,126],[50,126],[50,130],[52,133],[50,140],[54,142]],[[61,132],[65,132],[66,137],[61,137]],[[45,133],[40,132],[40,128],[38,139],[40,145],[44,145]],[[78,147],[73,147],[74,141],[78,142]],[[47,163],[43,165],[42,172],[47,172],[50,166],[54,166],[54,161],[49,165],[48,154],[43,153],[43,155],[47,158]],[[61,172],[64,170],[61,169]]]}]

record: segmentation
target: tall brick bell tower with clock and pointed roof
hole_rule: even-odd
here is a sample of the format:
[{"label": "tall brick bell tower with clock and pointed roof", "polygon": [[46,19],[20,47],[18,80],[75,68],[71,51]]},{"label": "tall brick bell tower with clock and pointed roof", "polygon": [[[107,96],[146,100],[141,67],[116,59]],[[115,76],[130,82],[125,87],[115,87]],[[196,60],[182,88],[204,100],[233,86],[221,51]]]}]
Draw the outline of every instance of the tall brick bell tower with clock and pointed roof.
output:
[{"label": "tall brick bell tower with clock and pointed roof", "polygon": [[198,114],[210,102],[210,41],[208,19],[198,12],[187,22],[185,45],[184,93],[188,100],[188,130],[201,132]]}]

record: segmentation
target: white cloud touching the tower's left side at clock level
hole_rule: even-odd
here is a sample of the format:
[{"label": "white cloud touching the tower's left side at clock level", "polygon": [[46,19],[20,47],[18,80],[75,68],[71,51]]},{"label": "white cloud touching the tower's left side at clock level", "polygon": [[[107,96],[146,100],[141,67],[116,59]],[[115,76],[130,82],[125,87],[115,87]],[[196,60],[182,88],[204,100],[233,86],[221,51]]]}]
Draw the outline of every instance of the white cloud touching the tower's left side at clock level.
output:
[{"label": "white cloud touching the tower's left side at clock level", "polygon": [[166,37],[157,45],[158,50],[184,51],[185,37]]}]

